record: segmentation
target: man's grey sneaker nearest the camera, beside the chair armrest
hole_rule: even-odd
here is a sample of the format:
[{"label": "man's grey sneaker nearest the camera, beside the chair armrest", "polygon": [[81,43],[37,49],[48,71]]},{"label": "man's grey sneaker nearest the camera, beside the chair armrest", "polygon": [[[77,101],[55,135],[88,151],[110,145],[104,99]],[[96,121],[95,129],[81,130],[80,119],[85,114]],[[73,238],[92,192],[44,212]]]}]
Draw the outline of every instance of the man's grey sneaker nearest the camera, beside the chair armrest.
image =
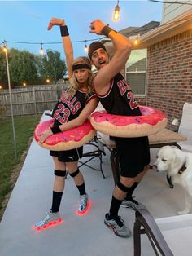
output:
[{"label": "man's grey sneaker nearest the camera, beside the chair armrest", "polygon": [[116,236],[121,237],[129,237],[131,236],[131,232],[128,227],[124,225],[124,221],[120,218],[120,216],[116,216],[116,218],[110,218],[109,214],[105,215],[104,223],[107,227],[110,227]]}]

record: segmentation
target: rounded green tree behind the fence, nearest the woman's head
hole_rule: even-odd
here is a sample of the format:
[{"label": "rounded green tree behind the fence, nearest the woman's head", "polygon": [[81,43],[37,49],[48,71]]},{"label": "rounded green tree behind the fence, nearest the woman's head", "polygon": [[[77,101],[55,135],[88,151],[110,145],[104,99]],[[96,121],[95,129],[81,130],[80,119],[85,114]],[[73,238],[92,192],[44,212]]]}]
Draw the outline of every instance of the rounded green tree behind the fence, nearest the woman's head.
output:
[{"label": "rounded green tree behind the fence, nearest the woman's head", "polygon": [[66,73],[66,64],[61,60],[59,51],[48,50],[46,55],[41,57],[39,63],[39,73],[41,79],[49,78],[51,81],[58,82]]}]

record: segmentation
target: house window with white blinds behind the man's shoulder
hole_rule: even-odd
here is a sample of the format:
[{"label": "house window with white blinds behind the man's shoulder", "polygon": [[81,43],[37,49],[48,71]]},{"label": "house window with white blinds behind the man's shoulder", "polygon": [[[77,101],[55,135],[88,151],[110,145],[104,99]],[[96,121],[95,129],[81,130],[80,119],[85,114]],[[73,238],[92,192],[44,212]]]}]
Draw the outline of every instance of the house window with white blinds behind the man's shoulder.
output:
[{"label": "house window with white blinds behind the man's shoulder", "polygon": [[125,66],[126,80],[134,95],[146,93],[146,49],[132,50]]}]

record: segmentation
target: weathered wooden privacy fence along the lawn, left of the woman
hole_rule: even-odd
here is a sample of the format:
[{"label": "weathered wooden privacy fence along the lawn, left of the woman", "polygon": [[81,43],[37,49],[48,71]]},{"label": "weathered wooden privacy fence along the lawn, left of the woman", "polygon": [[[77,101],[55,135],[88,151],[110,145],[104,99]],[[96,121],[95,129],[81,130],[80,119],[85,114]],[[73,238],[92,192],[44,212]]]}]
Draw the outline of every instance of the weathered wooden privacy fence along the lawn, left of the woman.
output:
[{"label": "weathered wooden privacy fence along the lawn, left of the woman", "polygon": [[[52,109],[58,101],[62,90],[68,84],[51,86],[28,86],[27,88],[11,89],[11,100],[14,116],[43,113]],[[0,108],[2,117],[11,116],[9,90],[0,91]]]}]

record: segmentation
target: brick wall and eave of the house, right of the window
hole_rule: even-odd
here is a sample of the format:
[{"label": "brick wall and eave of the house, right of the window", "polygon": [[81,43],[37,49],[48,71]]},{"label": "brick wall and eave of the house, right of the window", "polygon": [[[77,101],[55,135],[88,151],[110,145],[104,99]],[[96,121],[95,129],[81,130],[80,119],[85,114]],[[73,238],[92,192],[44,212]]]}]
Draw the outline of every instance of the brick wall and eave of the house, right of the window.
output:
[{"label": "brick wall and eave of the house, right of the window", "polygon": [[181,120],[185,102],[192,103],[192,9],[145,33],[140,47],[147,48],[146,95],[140,103],[162,109]]}]

